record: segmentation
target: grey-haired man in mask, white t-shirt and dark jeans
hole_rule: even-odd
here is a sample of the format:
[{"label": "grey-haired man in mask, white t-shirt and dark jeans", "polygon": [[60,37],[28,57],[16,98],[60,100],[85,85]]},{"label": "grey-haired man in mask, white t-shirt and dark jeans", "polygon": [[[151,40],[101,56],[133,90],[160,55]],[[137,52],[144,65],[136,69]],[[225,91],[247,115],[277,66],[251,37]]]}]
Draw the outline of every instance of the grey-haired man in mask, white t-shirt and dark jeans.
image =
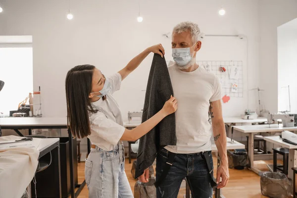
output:
[{"label": "grey-haired man in mask, white t-shirt and dark jeans", "polygon": [[[174,97],[179,103],[175,112],[177,144],[166,146],[157,153],[156,180],[162,178],[157,186],[157,198],[177,198],[184,178],[187,178],[193,198],[212,197],[212,133],[221,158],[216,175],[217,188],[223,188],[229,180],[221,85],[214,74],[196,64],[196,54],[201,48],[199,33],[198,25],[192,22],[182,22],[173,29],[174,64],[168,70]],[[174,153],[174,160],[164,177],[162,173],[168,166],[170,153]],[[209,158],[211,170],[205,158]],[[147,182],[145,173],[139,180]]]}]

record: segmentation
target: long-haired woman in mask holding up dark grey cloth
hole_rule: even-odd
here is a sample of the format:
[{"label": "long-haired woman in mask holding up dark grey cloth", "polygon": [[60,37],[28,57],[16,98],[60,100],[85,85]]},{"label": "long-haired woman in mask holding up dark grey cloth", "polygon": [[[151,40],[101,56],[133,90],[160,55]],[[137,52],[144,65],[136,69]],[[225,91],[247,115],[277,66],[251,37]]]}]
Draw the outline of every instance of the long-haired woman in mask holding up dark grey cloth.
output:
[{"label": "long-haired woman in mask holding up dark grey cloth", "polygon": [[105,78],[93,65],[78,65],[67,73],[68,124],[74,136],[88,137],[92,143],[85,164],[89,198],[133,198],[120,140],[138,140],[177,109],[177,100],[171,96],[148,121],[132,130],[123,127],[121,111],[112,94],[150,52],[163,57],[164,49],[159,44],[144,50],[110,78]]}]

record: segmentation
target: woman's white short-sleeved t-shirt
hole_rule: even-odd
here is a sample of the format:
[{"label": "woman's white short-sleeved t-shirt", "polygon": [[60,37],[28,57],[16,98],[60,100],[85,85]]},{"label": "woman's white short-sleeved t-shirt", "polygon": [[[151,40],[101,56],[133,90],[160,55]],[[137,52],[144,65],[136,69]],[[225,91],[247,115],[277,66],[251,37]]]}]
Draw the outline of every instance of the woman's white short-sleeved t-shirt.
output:
[{"label": "woman's white short-sleeved t-shirt", "polygon": [[125,131],[119,105],[112,96],[115,91],[120,89],[122,77],[119,73],[115,73],[108,79],[110,80],[110,91],[107,93],[106,99],[100,98],[93,102],[103,110],[107,118],[100,111],[90,113],[91,135],[88,136],[93,145],[105,151],[112,150]]}]

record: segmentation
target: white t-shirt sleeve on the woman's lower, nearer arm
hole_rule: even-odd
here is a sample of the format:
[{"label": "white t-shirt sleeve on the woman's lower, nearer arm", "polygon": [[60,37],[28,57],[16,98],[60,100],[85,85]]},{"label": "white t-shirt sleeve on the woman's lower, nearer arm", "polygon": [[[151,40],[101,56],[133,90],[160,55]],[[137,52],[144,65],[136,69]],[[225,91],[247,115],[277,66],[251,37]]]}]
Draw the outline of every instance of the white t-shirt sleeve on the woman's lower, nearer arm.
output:
[{"label": "white t-shirt sleeve on the woman's lower, nearer arm", "polygon": [[99,136],[107,143],[116,145],[125,132],[125,128],[116,122],[106,118],[103,114],[97,113],[96,117],[91,122],[92,136]]}]

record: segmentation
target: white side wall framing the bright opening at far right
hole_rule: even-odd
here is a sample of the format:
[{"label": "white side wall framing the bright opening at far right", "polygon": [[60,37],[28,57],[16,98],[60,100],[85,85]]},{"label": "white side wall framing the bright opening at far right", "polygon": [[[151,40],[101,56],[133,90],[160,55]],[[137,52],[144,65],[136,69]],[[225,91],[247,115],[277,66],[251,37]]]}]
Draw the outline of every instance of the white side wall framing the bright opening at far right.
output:
[{"label": "white side wall framing the bright opening at far right", "polygon": [[278,111],[277,27],[297,18],[297,0],[259,0],[260,89],[266,109]]}]

